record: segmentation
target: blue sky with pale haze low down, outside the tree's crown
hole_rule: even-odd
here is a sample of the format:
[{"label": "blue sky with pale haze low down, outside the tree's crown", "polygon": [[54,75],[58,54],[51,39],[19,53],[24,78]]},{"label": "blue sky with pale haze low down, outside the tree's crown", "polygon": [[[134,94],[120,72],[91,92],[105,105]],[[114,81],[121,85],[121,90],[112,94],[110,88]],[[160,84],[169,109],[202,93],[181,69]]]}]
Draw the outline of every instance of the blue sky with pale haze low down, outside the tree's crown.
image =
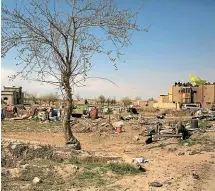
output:
[{"label": "blue sky with pale haze low down, outside the tree's crown", "polygon": [[[9,6],[14,1],[10,0]],[[135,10],[140,1],[116,2]],[[89,87],[76,89],[81,97],[104,94],[116,98],[157,98],[166,94],[175,81],[188,81],[190,73],[215,81],[214,0],[145,0],[138,24],[151,27],[148,33],[134,33],[132,45],[124,50],[122,57],[126,63],[118,62],[118,71],[101,55],[93,59],[90,75],[111,79],[119,88],[107,81],[91,80]],[[2,86],[14,84],[38,94],[55,92],[50,85],[41,86],[20,79],[9,82],[7,76],[20,69],[15,66],[13,57],[14,52],[10,52],[2,59]]]}]

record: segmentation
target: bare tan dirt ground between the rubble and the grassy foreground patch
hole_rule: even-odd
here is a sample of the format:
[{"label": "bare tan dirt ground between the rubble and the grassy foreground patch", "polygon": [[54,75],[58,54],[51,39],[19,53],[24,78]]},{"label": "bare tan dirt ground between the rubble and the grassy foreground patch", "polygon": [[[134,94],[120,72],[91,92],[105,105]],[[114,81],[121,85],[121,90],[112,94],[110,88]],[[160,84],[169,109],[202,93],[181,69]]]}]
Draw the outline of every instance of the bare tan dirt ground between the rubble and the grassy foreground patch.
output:
[{"label": "bare tan dirt ground between the rubble and the grassy foreground patch", "polygon": [[[23,121],[13,123],[14,126],[15,123],[17,126],[24,124]],[[39,128],[36,123],[38,122],[28,122],[28,127],[34,128],[34,132],[24,129],[18,132],[12,130],[11,122],[5,121],[2,125],[2,139],[65,147],[62,129],[45,132],[44,128]],[[52,125],[55,126],[54,123]],[[119,156],[127,163],[132,163],[132,159],[137,157],[148,160],[144,164],[146,169],[144,174],[125,175],[121,179],[116,179],[115,184],[120,185],[120,190],[215,190],[214,132],[197,133],[193,135],[192,141],[187,142],[169,138],[145,145],[146,137],[139,135],[143,129],[144,127],[134,129],[126,125],[125,132],[120,134],[90,132],[75,133],[75,136],[81,142],[83,150],[92,151],[97,155]],[[150,182],[155,181],[162,183],[163,186],[159,188],[149,186]]]}]

